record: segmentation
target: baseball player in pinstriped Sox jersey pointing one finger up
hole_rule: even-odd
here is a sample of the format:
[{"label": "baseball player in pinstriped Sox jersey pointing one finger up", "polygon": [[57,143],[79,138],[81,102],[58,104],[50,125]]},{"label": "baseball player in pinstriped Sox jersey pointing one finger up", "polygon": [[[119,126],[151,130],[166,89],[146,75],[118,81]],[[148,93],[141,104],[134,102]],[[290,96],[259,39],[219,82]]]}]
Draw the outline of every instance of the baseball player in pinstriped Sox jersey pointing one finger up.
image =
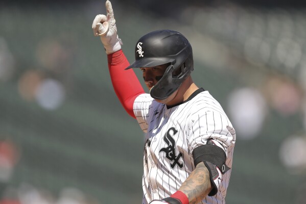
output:
[{"label": "baseball player in pinstriped Sox jersey pointing one finger up", "polygon": [[[179,32],[142,36],[130,64],[111,3],[92,29],[105,48],[115,93],[146,133],[143,204],[225,203],[236,133],[221,105],[192,80],[193,52]],[[132,68],[143,72],[146,94]]]}]

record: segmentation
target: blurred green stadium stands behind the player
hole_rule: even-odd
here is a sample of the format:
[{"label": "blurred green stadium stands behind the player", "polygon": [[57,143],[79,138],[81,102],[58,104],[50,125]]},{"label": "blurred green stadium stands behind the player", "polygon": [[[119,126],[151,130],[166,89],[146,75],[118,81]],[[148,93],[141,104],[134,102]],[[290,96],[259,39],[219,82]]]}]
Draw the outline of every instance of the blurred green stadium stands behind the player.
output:
[{"label": "blurred green stadium stands behind the player", "polygon": [[[306,15],[280,3],[112,1],[130,62],[150,31],[190,40],[194,81],[237,130],[229,204],[306,203]],[[103,1],[0,3],[1,204],[142,201],[144,135],[91,30],[105,12]]]}]

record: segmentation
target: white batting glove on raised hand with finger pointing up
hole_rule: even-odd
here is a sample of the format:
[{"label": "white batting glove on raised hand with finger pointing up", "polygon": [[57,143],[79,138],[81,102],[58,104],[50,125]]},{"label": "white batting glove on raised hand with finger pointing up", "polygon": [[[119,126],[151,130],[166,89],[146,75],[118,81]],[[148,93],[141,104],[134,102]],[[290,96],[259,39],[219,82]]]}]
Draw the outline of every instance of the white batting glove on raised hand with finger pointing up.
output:
[{"label": "white batting glove on raised hand with finger pointing up", "polygon": [[121,50],[122,41],[117,35],[116,20],[110,1],[106,1],[105,7],[106,16],[102,14],[97,15],[93,19],[92,30],[95,36],[100,36],[106,54],[111,54]]}]

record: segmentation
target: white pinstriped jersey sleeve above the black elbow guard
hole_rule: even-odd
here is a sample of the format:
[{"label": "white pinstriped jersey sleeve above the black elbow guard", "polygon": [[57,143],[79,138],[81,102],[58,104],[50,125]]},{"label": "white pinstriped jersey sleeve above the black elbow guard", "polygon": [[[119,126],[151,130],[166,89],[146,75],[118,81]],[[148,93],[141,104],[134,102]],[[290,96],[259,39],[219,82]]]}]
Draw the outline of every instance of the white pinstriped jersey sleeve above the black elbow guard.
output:
[{"label": "white pinstriped jersey sleeve above the black elbow guard", "polygon": [[191,152],[211,140],[221,147],[227,156],[236,140],[236,132],[232,124],[227,116],[219,111],[205,109],[197,111],[193,114],[188,129],[187,140],[189,140]]}]

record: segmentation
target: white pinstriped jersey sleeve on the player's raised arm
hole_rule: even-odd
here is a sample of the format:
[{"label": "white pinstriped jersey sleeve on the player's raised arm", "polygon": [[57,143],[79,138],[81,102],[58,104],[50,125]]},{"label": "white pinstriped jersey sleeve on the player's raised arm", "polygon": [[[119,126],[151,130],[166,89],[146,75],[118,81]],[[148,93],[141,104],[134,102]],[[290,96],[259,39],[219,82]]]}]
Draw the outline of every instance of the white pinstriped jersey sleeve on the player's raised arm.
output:
[{"label": "white pinstriped jersey sleeve on the player's raised arm", "polygon": [[148,130],[148,120],[153,102],[155,102],[155,100],[150,96],[150,94],[141,94],[134,100],[134,115],[140,128],[144,132],[147,132]]}]

